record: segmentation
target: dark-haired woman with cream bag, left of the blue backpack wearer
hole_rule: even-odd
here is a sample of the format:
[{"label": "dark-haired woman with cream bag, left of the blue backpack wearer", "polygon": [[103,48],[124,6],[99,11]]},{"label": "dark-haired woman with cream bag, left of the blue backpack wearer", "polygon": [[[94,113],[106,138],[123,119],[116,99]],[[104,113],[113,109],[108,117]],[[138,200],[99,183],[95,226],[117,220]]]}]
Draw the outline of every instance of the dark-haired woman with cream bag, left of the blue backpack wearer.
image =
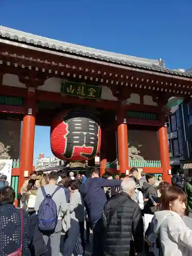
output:
[{"label": "dark-haired woman with cream bag, left of the blue backpack wearer", "polygon": [[30,179],[27,185],[26,191],[22,194],[23,209],[27,210],[30,215],[34,214],[35,200],[37,196],[37,187],[35,186],[35,180]]}]

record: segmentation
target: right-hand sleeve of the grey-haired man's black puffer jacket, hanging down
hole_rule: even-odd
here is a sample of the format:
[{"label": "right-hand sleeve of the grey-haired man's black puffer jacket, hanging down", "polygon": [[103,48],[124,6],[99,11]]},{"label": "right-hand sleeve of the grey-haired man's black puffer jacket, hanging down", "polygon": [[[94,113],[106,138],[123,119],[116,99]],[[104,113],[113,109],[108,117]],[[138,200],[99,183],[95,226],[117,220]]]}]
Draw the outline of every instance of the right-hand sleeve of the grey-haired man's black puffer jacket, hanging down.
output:
[{"label": "right-hand sleeve of the grey-haired man's black puffer jacket, hanging down", "polygon": [[136,253],[141,253],[143,251],[144,244],[144,228],[141,210],[138,204],[135,205],[135,209],[133,211],[132,234],[134,239],[135,251]]}]

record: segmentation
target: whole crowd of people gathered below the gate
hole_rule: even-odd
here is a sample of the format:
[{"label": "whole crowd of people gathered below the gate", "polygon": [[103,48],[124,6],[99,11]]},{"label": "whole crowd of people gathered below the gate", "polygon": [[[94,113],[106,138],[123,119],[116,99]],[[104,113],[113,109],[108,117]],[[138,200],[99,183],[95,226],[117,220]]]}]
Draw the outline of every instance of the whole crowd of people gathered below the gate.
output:
[{"label": "whole crowd of people gathered below the gate", "polygon": [[4,177],[0,255],[81,256],[92,230],[93,256],[187,256],[192,253],[191,180],[181,187],[144,172],[139,179],[135,167],[130,176],[115,177],[100,177],[94,167],[90,178],[39,171],[23,184],[18,208]]}]

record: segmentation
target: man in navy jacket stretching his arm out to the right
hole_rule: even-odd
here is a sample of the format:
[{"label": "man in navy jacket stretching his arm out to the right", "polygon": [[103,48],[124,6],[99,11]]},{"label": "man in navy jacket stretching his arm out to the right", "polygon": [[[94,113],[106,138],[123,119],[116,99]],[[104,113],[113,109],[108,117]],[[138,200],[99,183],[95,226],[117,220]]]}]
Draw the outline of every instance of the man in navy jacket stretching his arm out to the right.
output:
[{"label": "man in navy jacket stretching his arm out to the right", "polygon": [[[79,191],[83,198],[88,218],[93,228],[93,256],[102,255],[101,229],[98,221],[101,218],[104,204],[107,199],[103,187],[120,186],[121,180],[108,180],[99,178],[99,170],[92,169],[92,178],[81,184]],[[101,252],[100,252],[101,250]]]}]

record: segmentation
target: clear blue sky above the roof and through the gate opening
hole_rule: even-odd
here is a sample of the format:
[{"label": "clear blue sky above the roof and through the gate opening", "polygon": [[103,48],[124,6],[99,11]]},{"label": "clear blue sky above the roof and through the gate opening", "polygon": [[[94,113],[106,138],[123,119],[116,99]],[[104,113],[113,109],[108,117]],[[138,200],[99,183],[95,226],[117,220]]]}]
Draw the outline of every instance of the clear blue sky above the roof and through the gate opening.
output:
[{"label": "clear blue sky above the roof and through the gate opening", "polygon": [[[0,24],[74,44],[192,67],[191,0],[1,0]],[[50,127],[36,127],[34,158],[51,156]]]}]

